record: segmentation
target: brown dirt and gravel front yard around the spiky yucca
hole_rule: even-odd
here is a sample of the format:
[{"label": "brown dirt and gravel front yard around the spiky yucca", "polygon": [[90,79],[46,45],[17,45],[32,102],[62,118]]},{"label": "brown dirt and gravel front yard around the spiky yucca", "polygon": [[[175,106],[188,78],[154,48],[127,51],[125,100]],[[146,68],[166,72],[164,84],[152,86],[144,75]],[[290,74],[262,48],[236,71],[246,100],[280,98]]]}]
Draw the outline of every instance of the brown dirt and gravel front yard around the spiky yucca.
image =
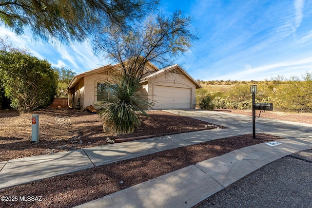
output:
[{"label": "brown dirt and gravel front yard around the spiky yucca", "polygon": [[[31,117],[39,114],[39,143],[31,143]],[[142,126],[127,135],[102,132],[96,114],[47,109],[33,113],[0,111],[0,161],[108,144],[106,138],[128,138],[208,129],[210,123],[162,111],[150,111]],[[211,128],[211,127],[210,127]],[[215,126],[217,128],[217,126]],[[219,127],[222,128],[222,127]]]}]

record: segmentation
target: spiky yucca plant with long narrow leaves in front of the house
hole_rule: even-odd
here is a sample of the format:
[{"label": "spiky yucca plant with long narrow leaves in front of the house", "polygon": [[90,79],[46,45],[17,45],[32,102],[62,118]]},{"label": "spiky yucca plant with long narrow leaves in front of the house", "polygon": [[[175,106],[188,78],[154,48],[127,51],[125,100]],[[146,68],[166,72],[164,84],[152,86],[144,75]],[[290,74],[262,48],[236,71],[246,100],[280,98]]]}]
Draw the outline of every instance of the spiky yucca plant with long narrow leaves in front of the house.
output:
[{"label": "spiky yucca plant with long narrow leaves in front of the house", "polygon": [[140,94],[140,79],[136,76],[116,76],[109,85],[110,97],[96,105],[102,109],[98,116],[103,121],[103,130],[113,134],[134,132],[140,126],[140,115],[146,115],[144,109],[149,106],[147,99]]}]

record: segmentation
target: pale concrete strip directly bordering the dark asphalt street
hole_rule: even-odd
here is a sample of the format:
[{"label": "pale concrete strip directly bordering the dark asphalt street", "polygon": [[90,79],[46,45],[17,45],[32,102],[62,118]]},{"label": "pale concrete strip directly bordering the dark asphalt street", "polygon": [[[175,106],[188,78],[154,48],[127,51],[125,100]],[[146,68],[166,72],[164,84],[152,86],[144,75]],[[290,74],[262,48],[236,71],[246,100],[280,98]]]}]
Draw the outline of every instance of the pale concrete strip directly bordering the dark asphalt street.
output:
[{"label": "pale concrete strip directly bordering the dark asphalt street", "polygon": [[242,148],[176,170],[77,208],[189,208],[264,165],[312,148],[306,138],[278,140]]}]

